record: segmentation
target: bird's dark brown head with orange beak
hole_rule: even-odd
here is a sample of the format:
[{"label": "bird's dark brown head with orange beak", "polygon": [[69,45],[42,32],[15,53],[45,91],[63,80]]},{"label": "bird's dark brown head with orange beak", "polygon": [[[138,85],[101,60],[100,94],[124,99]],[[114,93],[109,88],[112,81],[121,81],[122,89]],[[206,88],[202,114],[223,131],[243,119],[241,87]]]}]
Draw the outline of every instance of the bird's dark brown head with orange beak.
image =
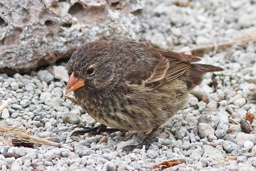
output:
[{"label": "bird's dark brown head with orange beak", "polygon": [[122,61],[119,57],[113,58],[116,54],[112,51],[111,45],[104,41],[79,47],[68,62],[69,81],[65,94],[104,90],[115,84],[121,73],[116,72],[116,68]]}]

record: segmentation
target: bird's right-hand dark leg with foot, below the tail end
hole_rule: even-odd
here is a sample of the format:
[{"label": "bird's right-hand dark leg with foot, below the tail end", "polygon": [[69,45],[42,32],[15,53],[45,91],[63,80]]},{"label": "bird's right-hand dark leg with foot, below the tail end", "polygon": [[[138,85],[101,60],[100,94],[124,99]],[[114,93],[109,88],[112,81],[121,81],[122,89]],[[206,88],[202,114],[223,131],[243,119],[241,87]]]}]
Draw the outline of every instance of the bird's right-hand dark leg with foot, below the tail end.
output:
[{"label": "bird's right-hand dark leg with foot, below the tail end", "polygon": [[142,143],[138,144],[138,145],[127,145],[123,148],[122,151],[126,151],[126,152],[132,152],[134,149],[142,149],[143,145],[146,146],[146,150],[148,149],[149,145],[151,144],[151,142],[154,140],[155,137],[153,137],[153,134],[155,133],[155,131],[158,129],[154,128],[151,133],[149,133],[146,138],[142,141]]}]

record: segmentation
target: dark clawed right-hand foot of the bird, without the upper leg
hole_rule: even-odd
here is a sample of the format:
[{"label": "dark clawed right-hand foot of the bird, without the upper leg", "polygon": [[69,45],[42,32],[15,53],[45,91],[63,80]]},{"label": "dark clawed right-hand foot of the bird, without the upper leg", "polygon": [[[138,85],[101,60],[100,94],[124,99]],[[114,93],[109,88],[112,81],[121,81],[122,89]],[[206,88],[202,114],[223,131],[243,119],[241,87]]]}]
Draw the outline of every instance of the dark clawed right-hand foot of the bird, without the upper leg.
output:
[{"label": "dark clawed right-hand foot of the bird, without the upper leg", "polygon": [[147,150],[149,145],[152,142],[156,142],[157,138],[156,137],[151,137],[151,136],[147,136],[142,143],[138,144],[138,145],[127,145],[123,148],[122,152],[132,152],[134,149],[142,149],[143,145],[145,145],[145,149]]}]

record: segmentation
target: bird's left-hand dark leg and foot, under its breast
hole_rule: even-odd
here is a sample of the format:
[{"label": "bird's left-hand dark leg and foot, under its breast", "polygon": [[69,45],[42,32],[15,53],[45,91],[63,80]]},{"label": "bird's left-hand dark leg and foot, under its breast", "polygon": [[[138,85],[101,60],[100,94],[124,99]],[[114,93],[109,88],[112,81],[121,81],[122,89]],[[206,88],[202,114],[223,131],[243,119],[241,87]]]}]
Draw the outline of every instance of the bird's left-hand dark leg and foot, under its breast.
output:
[{"label": "bird's left-hand dark leg and foot, under its breast", "polygon": [[78,130],[78,131],[74,131],[71,136],[77,136],[77,135],[84,135],[85,133],[89,133],[89,136],[94,136],[94,135],[98,135],[101,133],[114,133],[116,131],[121,131],[119,129],[113,129],[113,128],[107,128],[105,125],[100,124],[97,127],[84,127],[84,126],[76,126],[76,127],[80,127],[80,128],[84,128],[85,130]]}]

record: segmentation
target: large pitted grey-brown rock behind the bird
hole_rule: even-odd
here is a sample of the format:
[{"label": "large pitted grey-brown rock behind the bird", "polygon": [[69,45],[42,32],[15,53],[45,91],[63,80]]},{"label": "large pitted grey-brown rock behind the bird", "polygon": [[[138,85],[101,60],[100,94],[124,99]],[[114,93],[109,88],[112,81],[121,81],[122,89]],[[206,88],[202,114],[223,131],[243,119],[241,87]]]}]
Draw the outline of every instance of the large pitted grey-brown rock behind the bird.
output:
[{"label": "large pitted grey-brown rock behind the bird", "polygon": [[138,41],[140,0],[1,0],[0,72],[25,73],[94,40]]}]

